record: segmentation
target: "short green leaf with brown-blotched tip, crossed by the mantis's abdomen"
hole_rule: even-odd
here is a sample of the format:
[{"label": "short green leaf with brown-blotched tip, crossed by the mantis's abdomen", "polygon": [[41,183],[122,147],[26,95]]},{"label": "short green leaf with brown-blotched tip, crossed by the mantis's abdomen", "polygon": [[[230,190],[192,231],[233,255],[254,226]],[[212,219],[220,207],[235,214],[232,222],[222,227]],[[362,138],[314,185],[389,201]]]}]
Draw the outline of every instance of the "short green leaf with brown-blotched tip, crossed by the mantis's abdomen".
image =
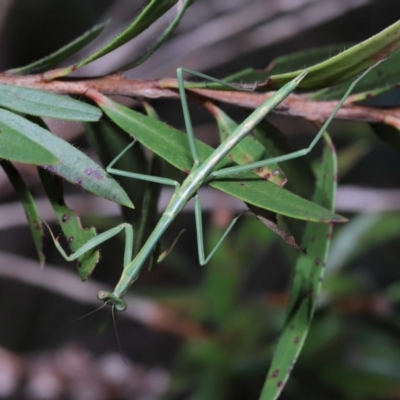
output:
[{"label": "short green leaf with brown-blotched tip, crossed by the mantis's abdomen", "polygon": [[[221,142],[224,141],[237,128],[238,124],[213,103],[206,102],[204,106],[217,120],[219,136]],[[264,148],[253,135],[249,134],[237,146],[231,149],[227,157],[236,164],[243,165],[271,158],[271,155],[268,154],[268,148]],[[285,173],[276,163],[258,168],[253,172],[278,186],[284,186],[287,181]]]}]

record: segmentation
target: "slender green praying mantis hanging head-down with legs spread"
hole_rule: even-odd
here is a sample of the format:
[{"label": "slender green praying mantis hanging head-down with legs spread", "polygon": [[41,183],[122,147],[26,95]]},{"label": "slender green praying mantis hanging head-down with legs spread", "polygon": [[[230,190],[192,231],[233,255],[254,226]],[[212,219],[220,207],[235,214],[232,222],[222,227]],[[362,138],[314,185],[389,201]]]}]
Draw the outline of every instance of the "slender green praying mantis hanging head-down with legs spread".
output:
[{"label": "slender green praying mantis hanging head-down with legs spread", "polygon": [[[374,67],[374,66],[373,66]],[[373,68],[371,67],[371,68]],[[169,227],[169,225],[173,222],[178,213],[184,208],[186,203],[194,197],[194,210],[195,210],[195,220],[196,220],[196,232],[197,232],[197,246],[198,246],[198,257],[199,263],[201,265],[206,264],[210,258],[213,256],[215,251],[218,249],[221,242],[225,239],[227,234],[231,231],[234,224],[238,220],[241,214],[235,217],[226,231],[223,233],[222,237],[214,247],[214,249],[210,252],[208,256],[205,256],[204,251],[204,242],[203,242],[203,227],[202,227],[202,215],[201,215],[201,203],[200,198],[197,194],[200,187],[207,184],[211,180],[224,178],[224,177],[232,177],[233,174],[237,174],[239,172],[250,171],[256,168],[265,167],[272,163],[283,162],[287,160],[291,160],[294,158],[302,157],[308,154],[316,145],[316,143],[321,138],[323,132],[330,124],[332,119],[335,117],[337,111],[345,102],[346,98],[349,96],[355,85],[362,79],[371,69],[367,69],[363,74],[361,74],[357,79],[355,79],[352,84],[349,86],[348,90],[342,97],[342,99],[338,102],[337,106],[333,110],[332,114],[323,124],[315,138],[312,140],[309,147],[294,151],[289,154],[281,155],[278,157],[273,157],[266,160],[251,162],[246,165],[237,165],[231,167],[225,167],[222,169],[217,169],[217,164],[230,152],[232,148],[234,148],[252,129],[275,107],[277,107],[287,96],[289,96],[301,82],[301,80],[307,75],[307,70],[301,72],[295,79],[289,81],[284,86],[282,86],[279,90],[277,90],[268,100],[266,100],[261,106],[259,106],[256,110],[254,110],[250,116],[248,116],[238,127],[223,141],[221,144],[211,153],[211,155],[202,163],[200,163],[198,150],[196,147],[196,141],[192,129],[191,118],[188,110],[187,99],[185,95],[185,84],[183,80],[183,74],[185,72],[190,73],[192,75],[198,76],[202,79],[207,79],[211,82],[222,84],[228,86],[230,88],[234,88],[237,90],[236,86],[233,86],[229,83],[220,81],[218,79],[209,77],[207,75],[201,74],[196,71],[179,68],[177,70],[177,81],[179,94],[182,103],[182,110],[184,115],[184,121],[186,126],[186,132],[190,147],[190,152],[193,157],[193,167],[190,170],[186,179],[182,182],[182,184],[168,178],[163,177],[155,177],[151,175],[138,174],[133,172],[122,171],[118,169],[114,169],[114,164],[134,145],[131,143],[126,149],[124,149],[106,168],[107,172],[114,175],[125,176],[130,178],[135,178],[139,180],[145,180],[149,182],[155,182],[164,185],[170,185],[175,187],[174,194],[162,214],[160,220],[156,224],[154,230],[147,238],[147,241],[144,243],[143,247],[137,253],[136,257],[132,259],[133,255],[133,240],[134,240],[134,232],[133,228],[128,223],[122,223],[110,230],[107,230],[96,237],[92,238],[88,242],[86,242],[80,249],[72,253],[71,255],[67,255],[64,249],[61,247],[58,240],[51,233],[54,243],[61,253],[61,255],[68,261],[76,260],[85,252],[93,249],[94,247],[100,245],[111,237],[117,235],[121,231],[125,230],[125,251],[124,251],[124,265],[123,272],[119,282],[117,283],[113,292],[100,291],[98,292],[98,299],[104,301],[106,304],[109,304],[116,309],[117,311],[124,311],[126,309],[126,302],[123,299],[123,296],[128,291],[131,284],[138,278],[138,275],[143,267],[146,259],[152,255],[152,252],[160,240],[161,236],[165,232],[165,230]],[[88,96],[92,99],[96,100],[96,96],[88,93]]]}]

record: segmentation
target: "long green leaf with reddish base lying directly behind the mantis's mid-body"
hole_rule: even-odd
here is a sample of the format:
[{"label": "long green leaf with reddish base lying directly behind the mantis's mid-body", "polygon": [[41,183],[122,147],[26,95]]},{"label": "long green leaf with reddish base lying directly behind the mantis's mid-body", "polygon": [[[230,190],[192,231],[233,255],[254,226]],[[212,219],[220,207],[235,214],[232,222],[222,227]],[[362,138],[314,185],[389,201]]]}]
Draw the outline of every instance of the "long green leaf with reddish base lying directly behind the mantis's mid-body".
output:
[{"label": "long green leaf with reddish base lying directly behind the mantis's mid-body", "polygon": [[[189,173],[193,161],[184,133],[161,121],[121,106],[98,92],[89,91],[87,95],[97,102],[105,114],[125,132],[134,135],[140,143],[176,168]],[[209,146],[200,141],[197,141],[197,148],[200,160],[205,160],[212,152]],[[228,159],[223,160],[218,167],[226,165],[228,161]],[[238,174],[237,177],[240,177],[240,180],[226,178],[212,181],[210,186],[256,207],[292,218],[316,222],[346,221],[345,218],[264,181],[251,172]]]}]

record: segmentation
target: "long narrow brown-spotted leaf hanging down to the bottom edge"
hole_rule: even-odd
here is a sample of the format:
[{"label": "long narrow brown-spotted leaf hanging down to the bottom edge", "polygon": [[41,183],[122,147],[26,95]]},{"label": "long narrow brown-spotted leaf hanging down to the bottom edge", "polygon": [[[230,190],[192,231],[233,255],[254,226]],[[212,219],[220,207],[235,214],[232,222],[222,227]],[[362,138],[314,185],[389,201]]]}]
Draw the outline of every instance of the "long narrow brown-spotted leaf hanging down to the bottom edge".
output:
[{"label": "long narrow brown-spotted leaf hanging down to the bottom edge", "polygon": [[[318,169],[313,200],[333,210],[336,195],[336,157],[327,134],[324,135],[324,139],[323,161]],[[297,260],[283,332],[260,400],[278,398],[304,345],[321,288],[331,233],[332,224],[307,224],[303,241],[307,254],[301,254]]]}]

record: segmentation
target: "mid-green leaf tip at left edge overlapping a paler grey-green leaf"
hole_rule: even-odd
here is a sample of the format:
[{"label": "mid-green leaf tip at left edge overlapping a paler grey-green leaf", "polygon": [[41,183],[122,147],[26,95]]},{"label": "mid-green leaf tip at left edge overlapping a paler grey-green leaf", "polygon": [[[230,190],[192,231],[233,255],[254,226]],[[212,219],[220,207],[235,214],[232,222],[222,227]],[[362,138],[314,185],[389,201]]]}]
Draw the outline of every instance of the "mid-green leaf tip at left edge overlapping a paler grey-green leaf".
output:
[{"label": "mid-green leaf tip at left edge overlapping a paler grey-green leaf", "polygon": [[[50,133],[50,132],[49,132]],[[57,164],[57,158],[39,143],[0,121],[0,158],[25,164]]]}]

